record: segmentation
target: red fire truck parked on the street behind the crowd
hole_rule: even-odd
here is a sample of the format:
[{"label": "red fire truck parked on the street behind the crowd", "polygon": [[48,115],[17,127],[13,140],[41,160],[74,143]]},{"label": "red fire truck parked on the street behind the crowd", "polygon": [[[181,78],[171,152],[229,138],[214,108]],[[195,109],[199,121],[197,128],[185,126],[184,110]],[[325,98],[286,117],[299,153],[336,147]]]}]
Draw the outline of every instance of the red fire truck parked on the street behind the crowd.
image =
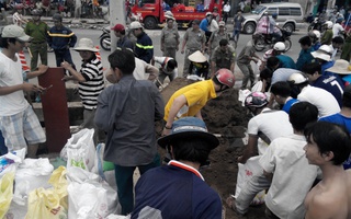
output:
[{"label": "red fire truck parked on the street behind the crowd", "polygon": [[173,13],[178,25],[186,25],[195,19],[204,19],[206,12],[213,12],[214,8],[218,9],[220,16],[222,3],[223,0],[135,0],[132,13],[139,18],[145,28],[156,28],[166,22],[167,10]]}]

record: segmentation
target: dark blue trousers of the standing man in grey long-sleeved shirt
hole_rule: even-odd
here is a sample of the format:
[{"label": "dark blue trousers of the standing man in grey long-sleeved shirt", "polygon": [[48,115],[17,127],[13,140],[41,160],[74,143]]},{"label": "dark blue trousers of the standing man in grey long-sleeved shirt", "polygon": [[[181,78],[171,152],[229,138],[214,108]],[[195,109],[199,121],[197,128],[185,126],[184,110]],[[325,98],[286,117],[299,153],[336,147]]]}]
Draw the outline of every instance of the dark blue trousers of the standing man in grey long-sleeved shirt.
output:
[{"label": "dark blue trousers of the standing man in grey long-sleeved shirt", "polygon": [[121,215],[128,215],[134,209],[133,174],[136,168],[140,175],[146,171],[160,165],[160,155],[157,153],[151,163],[138,166],[122,166],[114,164],[115,178],[117,184],[118,201],[122,207]]}]

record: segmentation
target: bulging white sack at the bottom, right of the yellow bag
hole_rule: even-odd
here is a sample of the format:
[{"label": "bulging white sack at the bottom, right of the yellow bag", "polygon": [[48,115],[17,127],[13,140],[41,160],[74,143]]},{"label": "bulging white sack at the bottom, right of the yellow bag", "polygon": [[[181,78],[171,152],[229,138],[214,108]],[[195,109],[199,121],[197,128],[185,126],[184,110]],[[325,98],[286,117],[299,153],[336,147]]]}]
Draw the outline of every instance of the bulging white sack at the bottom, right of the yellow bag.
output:
[{"label": "bulging white sack at the bottom, right of the yellow bag", "polygon": [[67,170],[67,180],[69,218],[104,218],[121,211],[117,193],[99,175],[72,166]]}]

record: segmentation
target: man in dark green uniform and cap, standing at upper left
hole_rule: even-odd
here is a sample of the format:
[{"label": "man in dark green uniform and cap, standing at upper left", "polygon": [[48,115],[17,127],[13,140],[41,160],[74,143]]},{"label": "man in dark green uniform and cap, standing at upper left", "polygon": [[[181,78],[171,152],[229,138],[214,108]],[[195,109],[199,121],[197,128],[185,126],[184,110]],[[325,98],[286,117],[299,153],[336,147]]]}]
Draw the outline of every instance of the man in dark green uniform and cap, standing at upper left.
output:
[{"label": "man in dark green uniform and cap, standing at upper left", "polygon": [[33,21],[30,21],[24,32],[32,37],[30,45],[30,51],[32,53],[31,59],[31,71],[35,71],[37,68],[37,59],[41,55],[41,61],[43,65],[47,66],[47,32],[49,30],[48,25],[41,21],[42,13],[39,10],[34,9],[32,11]]}]

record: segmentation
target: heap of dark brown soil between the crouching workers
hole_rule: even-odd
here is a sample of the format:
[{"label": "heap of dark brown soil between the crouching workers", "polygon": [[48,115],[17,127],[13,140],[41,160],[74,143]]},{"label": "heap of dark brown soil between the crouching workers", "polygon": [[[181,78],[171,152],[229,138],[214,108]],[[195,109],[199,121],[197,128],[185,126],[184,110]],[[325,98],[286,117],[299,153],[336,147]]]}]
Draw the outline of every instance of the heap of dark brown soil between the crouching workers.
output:
[{"label": "heap of dark brown soil between the crouching workers", "polygon": [[[161,91],[165,102],[180,88],[193,83],[194,81],[177,78]],[[207,184],[219,194],[225,206],[225,218],[264,218],[264,208],[250,207],[246,217],[238,217],[225,205],[225,199],[229,194],[235,193],[238,164],[237,158],[244,149],[242,139],[249,120],[247,111],[238,101],[238,90],[230,89],[225,91],[217,99],[207,102],[202,110],[202,116],[207,128],[213,134],[219,134],[220,145],[213,150],[210,155],[211,165],[201,169]]]}]

